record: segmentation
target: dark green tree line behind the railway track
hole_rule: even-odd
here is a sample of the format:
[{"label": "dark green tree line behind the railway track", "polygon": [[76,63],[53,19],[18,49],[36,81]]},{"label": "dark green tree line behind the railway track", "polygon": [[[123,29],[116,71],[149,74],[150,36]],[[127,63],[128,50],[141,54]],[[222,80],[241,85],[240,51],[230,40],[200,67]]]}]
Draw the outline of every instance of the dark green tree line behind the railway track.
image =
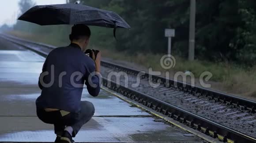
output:
[{"label": "dark green tree line behind the railway track", "polygon": [[[31,0],[30,1],[33,5]],[[75,3],[76,0],[69,0]],[[188,57],[190,0],[79,0],[80,4],[115,11],[132,29],[118,29],[117,41],[113,29],[92,27],[92,43],[136,53],[167,52],[166,28],[176,30],[172,53]],[[32,6],[30,5],[30,6]],[[25,6],[20,4],[21,9]],[[26,9],[26,8],[25,8]],[[23,12],[23,11],[22,11]],[[67,27],[30,25],[18,22],[18,30],[56,34],[70,32]],[[48,29],[48,30],[45,30]],[[195,57],[207,61],[231,61],[252,66],[256,63],[256,1],[196,0]]]}]

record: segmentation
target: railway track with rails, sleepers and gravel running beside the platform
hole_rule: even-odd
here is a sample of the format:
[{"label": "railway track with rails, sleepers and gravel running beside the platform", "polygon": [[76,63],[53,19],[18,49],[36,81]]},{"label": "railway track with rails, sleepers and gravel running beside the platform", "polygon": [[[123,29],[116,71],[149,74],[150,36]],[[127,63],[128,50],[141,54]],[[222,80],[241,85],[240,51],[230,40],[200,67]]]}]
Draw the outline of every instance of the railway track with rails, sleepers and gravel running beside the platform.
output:
[{"label": "railway track with rails, sleepers and gravel running beside the platform", "polygon": [[[0,37],[44,57],[55,48],[13,36]],[[111,72],[127,73],[128,83],[124,82],[123,76],[120,76],[118,83],[115,77],[107,79]],[[256,102],[200,87],[192,88],[188,84],[184,86],[181,82],[174,84],[173,80],[147,73],[140,76],[140,84],[133,87],[139,73],[131,68],[102,61],[103,85],[109,89],[223,142],[256,142]],[[159,82],[160,86],[153,88],[149,81]]]}]

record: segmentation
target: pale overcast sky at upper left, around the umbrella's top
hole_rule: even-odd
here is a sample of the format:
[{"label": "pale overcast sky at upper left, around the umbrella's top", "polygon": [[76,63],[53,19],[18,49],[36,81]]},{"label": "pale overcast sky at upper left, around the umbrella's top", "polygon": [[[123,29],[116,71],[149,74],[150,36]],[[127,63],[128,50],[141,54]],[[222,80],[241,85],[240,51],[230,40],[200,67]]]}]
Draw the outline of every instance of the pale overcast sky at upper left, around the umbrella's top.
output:
[{"label": "pale overcast sky at upper left, around the umbrella's top", "polygon": [[[37,5],[64,4],[66,0],[33,0]],[[19,0],[0,0],[0,26],[16,23],[19,14]]]}]

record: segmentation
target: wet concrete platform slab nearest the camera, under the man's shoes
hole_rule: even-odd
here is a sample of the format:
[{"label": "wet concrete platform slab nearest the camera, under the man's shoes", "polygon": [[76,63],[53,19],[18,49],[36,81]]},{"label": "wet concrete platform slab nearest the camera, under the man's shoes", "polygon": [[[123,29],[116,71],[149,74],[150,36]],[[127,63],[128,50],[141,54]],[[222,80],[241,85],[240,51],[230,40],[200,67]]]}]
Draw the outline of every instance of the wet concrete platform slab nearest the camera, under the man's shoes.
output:
[{"label": "wet concrete platform slab nearest the camera, under the man's shoes", "polygon": [[[52,125],[41,124],[38,118],[0,118],[8,129],[1,129],[0,142],[53,142]],[[94,117],[83,126],[74,138],[76,142],[175,142],[200,143],[176,127],[153,118],[98,118]]]}]

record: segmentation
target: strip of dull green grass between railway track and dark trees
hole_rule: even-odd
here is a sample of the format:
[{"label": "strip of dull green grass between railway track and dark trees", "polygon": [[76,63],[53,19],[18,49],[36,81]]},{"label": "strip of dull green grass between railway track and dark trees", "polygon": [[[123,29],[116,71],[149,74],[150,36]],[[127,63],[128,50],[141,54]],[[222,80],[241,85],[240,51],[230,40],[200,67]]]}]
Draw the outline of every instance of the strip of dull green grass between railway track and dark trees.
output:
[{"label": "strip of dull green grass between railway track and dark trees", "polygon": [[[34,35],[23,32],[12,31],[11,35],[19,36],[25,39],[34,40],[37,42],[48,43],[54,46],[63,46],[69,43],[68,39],[56,39],[51,35]],[[67,42],[63,42],[67,41]],[[96,48],[97,46],[91,46]],[[136,65],[146,68],[153,68],[154,71],[170,72],[192,72],[196,78],[199,78],[203,72],[211,72],[211,85],[215,90],[225,93],[235,94],[251,100],[256,100],[256,66],[250,69],[241,68],[239,65],[230,64],[229,62],[213,63],[207,61],[188,61],[186,59],[175,57],[176,65],[174,68],[165,70],[161,67],[160,54],[142,54],[138,53],[130,55],[124,52],[117,52],[113,49],[105,49],[98,47],[102,52],[103,57],[109,57],[113,61],[125,61],[135,63]],[[197,79],[198,81],[198,79]]]}]

